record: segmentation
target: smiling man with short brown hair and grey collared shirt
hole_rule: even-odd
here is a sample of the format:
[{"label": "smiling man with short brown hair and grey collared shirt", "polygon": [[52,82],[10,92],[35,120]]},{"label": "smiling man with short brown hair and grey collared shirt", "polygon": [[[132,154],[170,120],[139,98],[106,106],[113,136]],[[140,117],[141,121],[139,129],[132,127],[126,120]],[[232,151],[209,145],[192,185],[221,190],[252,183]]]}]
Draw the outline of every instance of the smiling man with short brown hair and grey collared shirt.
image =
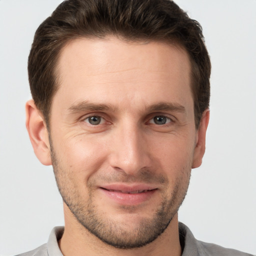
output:
[{"label": "smiling man with short brown hair and grey collared shirt", "polygon": [[205,149],[210,61],[176,4],[64,1],[36,31],[28,73],[26,126],[65,228],[24,255],[248,255],[178,224]]}]

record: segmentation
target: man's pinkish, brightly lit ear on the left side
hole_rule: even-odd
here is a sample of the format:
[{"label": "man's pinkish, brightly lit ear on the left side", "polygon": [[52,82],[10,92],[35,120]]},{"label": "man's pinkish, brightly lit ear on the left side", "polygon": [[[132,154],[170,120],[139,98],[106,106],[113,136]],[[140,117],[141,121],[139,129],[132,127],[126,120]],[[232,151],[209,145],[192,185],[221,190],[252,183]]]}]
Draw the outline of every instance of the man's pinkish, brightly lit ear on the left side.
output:
[{"label": "man's pinkish, brightly lit ear on the left side", "polygon": [[26,129],[32,143],[34,153],[44,165],[51,165],[48,131],[41,112],[34,101],[28,100],[25,105]]}]

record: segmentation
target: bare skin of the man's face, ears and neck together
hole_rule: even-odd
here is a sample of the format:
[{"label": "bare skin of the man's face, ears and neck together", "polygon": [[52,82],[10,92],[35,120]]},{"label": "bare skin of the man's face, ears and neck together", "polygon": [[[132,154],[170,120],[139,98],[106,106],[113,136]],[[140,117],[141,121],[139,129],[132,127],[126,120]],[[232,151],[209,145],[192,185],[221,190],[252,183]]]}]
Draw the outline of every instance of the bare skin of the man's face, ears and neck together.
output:
[{"label": "bare skin of the man's face, ears and neck together", "polygon": [[181,255],[177,210],[209,118],[206,109],[195,128],[187,53],[164,42],[80,38],[61,50],[57,70],[50,134],[32,100],[26,126],[64,201],[62,253]]}]

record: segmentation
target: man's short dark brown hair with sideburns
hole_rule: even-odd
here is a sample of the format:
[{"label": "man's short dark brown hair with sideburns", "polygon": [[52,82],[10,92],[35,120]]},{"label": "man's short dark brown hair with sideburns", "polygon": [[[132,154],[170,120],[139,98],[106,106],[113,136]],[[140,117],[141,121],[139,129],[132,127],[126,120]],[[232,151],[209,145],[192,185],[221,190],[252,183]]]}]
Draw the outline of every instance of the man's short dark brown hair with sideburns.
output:
[{"label": "man's short dark brown hair with sideburns", "polygon": [[37,28],[28,57],[35,105],[49,122],[57,91],[56,64],[61,48],[77,37],[116,35],[128,41],[177,43],[189,54],[195,126],[209,106],[210,59],[200,24],[172,0],[65,0]]}]

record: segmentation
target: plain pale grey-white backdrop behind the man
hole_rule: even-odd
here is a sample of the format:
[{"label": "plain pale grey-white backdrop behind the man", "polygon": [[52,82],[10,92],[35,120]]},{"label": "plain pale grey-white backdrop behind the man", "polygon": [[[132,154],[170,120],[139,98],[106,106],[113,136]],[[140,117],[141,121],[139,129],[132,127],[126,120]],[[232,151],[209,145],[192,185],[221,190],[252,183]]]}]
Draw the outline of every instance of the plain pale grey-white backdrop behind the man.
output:
[{"label": "plain pale grey-white backdrop behind the man", "polygon": [[[63,225],[51,166],[25,129],[33,34],[61,0],[0,0],[0,255],[31,250]],[[210,123],[179,220],[197,239],[256,254],[256,0],[176,0],[211,57]]]}]

